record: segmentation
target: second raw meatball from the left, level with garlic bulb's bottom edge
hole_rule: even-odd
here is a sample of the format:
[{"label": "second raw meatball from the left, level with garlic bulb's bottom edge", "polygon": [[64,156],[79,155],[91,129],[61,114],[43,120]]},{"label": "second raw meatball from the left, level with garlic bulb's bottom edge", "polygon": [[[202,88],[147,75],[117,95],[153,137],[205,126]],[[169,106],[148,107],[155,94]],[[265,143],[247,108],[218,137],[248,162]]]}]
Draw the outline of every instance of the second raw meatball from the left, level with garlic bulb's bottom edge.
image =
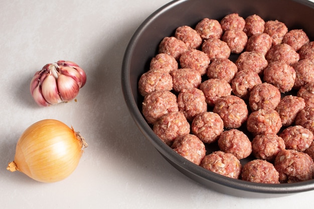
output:
[{"label": "second raw meatball from the left, level with garlic bulb's bottom edge", "polygon": [[178,95],[179,111],[182,111],[188,121],[196,115],[207,111],[206,98],[202,90],[197,88],[183,89]]}]

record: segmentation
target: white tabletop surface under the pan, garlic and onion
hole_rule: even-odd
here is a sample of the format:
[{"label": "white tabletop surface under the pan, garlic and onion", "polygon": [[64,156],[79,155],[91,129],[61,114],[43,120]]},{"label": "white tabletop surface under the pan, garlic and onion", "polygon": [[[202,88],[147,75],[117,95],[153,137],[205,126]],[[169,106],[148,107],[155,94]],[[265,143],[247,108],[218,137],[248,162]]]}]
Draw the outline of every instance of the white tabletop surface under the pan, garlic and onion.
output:
[{"label": "white tabletop surface under the pan, garlic and onion", "polygon": [[[314,191],[247,199],[218,193],[173,168],[137,129],[120,87],[126,45],[139,24],[170,1],[12,1],[0,3],[1,208],[308,208]],[[87,83],[77,102],[38,107],[34,73],[60,59],[79,64]],[[40,183],[11,173],[19,136],[54,118],[89,147],[63,181]],[[297,199],[295,201],[295,199]]]}]

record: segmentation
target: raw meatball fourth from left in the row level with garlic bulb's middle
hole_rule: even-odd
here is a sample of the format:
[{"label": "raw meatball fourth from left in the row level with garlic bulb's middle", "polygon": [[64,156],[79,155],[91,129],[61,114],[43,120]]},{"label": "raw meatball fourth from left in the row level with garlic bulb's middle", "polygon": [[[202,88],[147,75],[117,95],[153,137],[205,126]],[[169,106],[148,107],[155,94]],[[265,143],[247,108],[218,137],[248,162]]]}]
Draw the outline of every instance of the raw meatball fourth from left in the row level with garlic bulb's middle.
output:
[{"label": "raw meatball fourth from left in the row level with garlic bulb's middle", "polygon": [[231,81],[231,88],[234,95],[242,99],[248,99],[252,88],[261,83],[262,81],[256,72],[241,70],[236,73]]}]

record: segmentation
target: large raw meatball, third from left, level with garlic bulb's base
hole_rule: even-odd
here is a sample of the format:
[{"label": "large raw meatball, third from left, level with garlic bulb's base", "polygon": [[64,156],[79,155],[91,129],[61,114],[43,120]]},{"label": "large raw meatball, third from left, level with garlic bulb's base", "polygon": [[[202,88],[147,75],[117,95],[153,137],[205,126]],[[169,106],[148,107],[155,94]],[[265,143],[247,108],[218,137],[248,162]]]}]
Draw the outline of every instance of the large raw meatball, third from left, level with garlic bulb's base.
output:
[{"label": "large raw meatball, third from left, level with garlic bulb's base", "polygon": [[248,109],[244,100],[234,95],[218,99],[213,112],[222,118],[226,128],[239,128],[248,117]]}]

